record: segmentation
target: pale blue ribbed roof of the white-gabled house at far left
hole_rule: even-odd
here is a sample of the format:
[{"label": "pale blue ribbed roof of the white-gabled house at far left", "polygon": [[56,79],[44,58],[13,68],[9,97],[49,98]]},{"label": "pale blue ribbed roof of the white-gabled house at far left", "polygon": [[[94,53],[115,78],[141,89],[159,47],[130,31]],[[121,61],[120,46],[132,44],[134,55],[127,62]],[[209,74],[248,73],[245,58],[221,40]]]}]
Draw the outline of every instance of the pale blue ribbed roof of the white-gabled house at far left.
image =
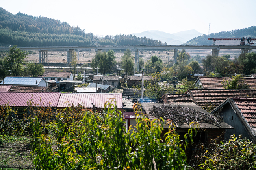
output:
[{"label": "pale blue ribbed roof of the white-gabled house at far left", "polygon": [[0,84],[38,85],[42,79],[42,77],[6,77]]}]

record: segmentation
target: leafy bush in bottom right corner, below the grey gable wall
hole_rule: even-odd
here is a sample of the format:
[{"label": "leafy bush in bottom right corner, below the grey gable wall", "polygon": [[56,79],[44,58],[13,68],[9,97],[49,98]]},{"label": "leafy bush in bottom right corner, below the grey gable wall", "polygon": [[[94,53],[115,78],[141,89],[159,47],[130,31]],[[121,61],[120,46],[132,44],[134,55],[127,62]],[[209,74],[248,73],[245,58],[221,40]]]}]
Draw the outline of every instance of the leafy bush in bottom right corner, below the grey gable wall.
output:
[{"label": "leafy bush in bottom right corner, below the grey gable wall", "polygon": [[256,144],[252,141],[230,136],[230,140],[205,148],[202,146],[202,155],[197,156],[197,161],[202,170],[241,170],[256,168]]}]

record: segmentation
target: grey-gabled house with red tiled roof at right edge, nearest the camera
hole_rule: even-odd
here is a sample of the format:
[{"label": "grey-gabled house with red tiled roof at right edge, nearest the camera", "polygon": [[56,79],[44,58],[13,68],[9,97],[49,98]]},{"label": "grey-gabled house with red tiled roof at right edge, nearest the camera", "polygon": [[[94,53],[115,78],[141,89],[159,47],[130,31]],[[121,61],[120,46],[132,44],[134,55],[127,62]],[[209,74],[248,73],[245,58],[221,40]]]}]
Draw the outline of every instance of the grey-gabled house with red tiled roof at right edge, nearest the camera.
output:
[{"label": "grey-gabled house with red tiled roof at right edge, nearest the camera", "polygon": [[242,134],[242,137],[256,143],[256,98],[228,98],[211,114],[218,111],[224,122],[235,128],[226,130],[226,139],[232,134],[236,137]]}]

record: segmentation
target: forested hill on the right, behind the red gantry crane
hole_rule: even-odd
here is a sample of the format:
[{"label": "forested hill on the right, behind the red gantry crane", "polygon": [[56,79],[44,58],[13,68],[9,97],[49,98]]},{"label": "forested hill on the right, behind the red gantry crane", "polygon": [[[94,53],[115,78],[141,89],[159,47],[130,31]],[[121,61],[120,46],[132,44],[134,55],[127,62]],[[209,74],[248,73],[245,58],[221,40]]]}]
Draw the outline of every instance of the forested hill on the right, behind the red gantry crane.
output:
[{"label": "forested hill on the right, behind the red gantry crane", "polygon": [[187,45],[212,45],[213,41],[208,41],[207,38],[241,38],[241,37],[256,37],[256,26],[237,29],[232,31],[223,31],[212,33],[209,35],[203,34],[187,41]]}]

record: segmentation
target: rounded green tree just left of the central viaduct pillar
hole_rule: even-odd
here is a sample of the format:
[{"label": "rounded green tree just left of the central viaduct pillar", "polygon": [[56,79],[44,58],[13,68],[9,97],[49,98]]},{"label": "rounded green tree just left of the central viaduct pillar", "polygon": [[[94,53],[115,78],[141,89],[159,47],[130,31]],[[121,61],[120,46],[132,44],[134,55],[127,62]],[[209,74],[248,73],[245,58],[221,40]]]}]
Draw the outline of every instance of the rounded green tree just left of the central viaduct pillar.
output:
[{"label": "rounded green tree just left of the central viaduct pillar", "polygon": [[126,75],[127,73],[129,75],[130,72],[134,70],[134,61],[132,59],[133,59],[132,53],[130,49],[127,49],[124,52],[124,55],[121,57],[122,69],[126,72]]}]

